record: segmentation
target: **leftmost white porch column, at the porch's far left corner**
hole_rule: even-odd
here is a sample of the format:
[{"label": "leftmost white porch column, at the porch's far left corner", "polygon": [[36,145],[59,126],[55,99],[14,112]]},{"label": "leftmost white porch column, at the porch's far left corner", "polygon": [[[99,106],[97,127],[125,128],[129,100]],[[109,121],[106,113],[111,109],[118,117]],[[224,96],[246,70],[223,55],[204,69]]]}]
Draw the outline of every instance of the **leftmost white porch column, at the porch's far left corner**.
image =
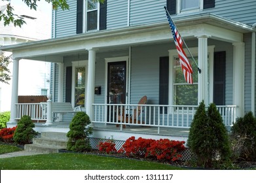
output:
[{"label": "leftmost white porch column, at the porch's far left corner", "polygon": [[13,69],[12,69],[12,98],[10,103],[10,120],[8,124],[16,124],[15,116],[17,114],[17,108],[15,106],[18,103],[18,76],[19,76],[19,61],[20,59],[13,59]]}]

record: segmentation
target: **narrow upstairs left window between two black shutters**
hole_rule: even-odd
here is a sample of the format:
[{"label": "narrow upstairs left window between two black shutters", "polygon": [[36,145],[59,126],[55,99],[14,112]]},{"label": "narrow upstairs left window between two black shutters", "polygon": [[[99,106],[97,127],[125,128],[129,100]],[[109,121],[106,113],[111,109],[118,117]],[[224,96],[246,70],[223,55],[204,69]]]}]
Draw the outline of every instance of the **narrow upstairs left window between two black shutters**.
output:
[{"label": "narrow upstairs left window between two black shutters", "polygon": [[98,3],[93,0],[86,1],[86,31],[98,29]]}]

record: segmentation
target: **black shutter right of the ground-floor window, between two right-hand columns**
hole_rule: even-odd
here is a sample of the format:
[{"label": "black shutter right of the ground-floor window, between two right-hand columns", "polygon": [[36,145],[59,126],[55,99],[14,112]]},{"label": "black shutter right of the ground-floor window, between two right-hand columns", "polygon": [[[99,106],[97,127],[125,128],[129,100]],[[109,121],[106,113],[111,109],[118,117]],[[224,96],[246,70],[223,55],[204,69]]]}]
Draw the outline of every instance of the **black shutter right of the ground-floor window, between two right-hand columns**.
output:
[{"label": "black shutter right of the ground-floor window, between two right-hand columns", "polygon": [[225,105],[226,52],[215,52],[213,62],[213,103]]}]

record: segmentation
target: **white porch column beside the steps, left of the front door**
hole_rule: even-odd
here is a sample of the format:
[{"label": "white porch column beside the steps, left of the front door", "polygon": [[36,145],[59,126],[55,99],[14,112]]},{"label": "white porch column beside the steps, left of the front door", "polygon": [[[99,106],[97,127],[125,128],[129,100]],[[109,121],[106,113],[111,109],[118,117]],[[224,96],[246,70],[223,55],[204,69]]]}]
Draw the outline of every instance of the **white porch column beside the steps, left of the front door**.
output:
[{"label": "white porch column beside the steps, left of the front door", "polygon": [[94,119],[94,110],[92,103],[94,103],[94,86],[95,86],[95,63],[96,63],[96,51],[90,49],[88,56],[88,82],[87,82],[87,96],[86,96],[86,114],[90,117],[90,120]]}]

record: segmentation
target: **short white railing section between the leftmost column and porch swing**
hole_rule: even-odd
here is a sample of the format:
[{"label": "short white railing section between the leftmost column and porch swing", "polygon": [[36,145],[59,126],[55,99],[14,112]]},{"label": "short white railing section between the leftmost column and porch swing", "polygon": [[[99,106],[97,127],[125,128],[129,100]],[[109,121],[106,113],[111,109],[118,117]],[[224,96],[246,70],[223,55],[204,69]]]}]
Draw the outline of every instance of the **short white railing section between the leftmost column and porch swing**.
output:
[{"label": "short white railing section between the leftmost column and porch swing", "polygon": [[22,116],[27,115],[31,120],[46,121],[46,103],[16,103],[15,119],[20,120]]}]

